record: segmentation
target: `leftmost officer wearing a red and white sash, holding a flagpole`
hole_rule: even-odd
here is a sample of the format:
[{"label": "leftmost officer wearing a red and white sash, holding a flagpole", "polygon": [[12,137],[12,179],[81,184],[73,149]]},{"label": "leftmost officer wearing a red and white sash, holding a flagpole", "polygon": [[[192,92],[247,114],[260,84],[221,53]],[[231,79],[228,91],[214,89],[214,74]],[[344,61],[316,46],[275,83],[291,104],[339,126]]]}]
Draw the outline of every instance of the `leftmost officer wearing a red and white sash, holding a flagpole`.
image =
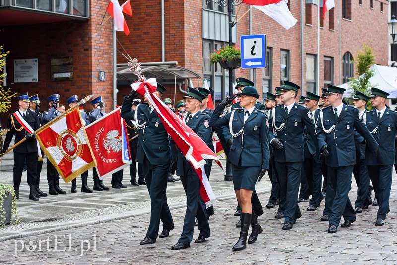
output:
[{"label": "leftmost officer wearing a red and white sash, holding a flagpole", "polygon": [[19,198],[19,185],[21,184],[23,164],[26,160],[27,165],[27,181],[30,192],[29,199],[39,200],[36,195],[36,179],[37,179],[37,159],[38,147],[36,137],[28,130],[36,131],[40,127],[39,117],[34,111],[29,110],[28,93],[18,96],[19,109],[8,117],[8,132],[5,136],[3,152],[5,152],[11,143],[12,136],[15,134],[15,143],[22,139],[26,141],[16,146],[14,151],[14,191],[16,198]]}]

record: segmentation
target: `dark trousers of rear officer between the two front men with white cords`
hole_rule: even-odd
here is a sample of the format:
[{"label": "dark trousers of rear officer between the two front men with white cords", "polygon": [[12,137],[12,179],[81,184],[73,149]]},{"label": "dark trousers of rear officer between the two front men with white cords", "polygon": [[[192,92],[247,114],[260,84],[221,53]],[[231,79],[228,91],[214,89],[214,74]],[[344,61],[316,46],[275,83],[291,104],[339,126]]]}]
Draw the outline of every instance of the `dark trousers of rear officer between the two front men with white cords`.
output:
[{"label": "dark trousers of rear officer between the two front men with white cords", "polygon": [[322,173],[320,163],[316,163],[314,157],[305,158],[303,168],[309,187],[312,187],[312,199],[310,199],[309,205],[317,208],[320,205],[320,201],[323,199],[323,194],[321,193]]}]

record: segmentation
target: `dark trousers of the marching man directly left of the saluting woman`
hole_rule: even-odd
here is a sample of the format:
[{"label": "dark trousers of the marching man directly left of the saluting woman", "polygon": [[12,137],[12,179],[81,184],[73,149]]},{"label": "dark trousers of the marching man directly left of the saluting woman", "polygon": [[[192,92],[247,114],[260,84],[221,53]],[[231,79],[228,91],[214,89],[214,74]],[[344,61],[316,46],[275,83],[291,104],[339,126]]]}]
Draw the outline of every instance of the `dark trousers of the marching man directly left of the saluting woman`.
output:
[{"label": "dark trousers of the marching man directly left of the saluting woman", "polygon": [[201,236],[209,237],[211,232],[205,210],[199,202],[199,197],[201,197],[199,177],[188,162],[184,161],[183,163],[184,176],[181,176],[181,181],[186,193],[186,213],[183,222],[183,231],[178,242],[190,244],[195,229],[195,217],[199,223]]}]

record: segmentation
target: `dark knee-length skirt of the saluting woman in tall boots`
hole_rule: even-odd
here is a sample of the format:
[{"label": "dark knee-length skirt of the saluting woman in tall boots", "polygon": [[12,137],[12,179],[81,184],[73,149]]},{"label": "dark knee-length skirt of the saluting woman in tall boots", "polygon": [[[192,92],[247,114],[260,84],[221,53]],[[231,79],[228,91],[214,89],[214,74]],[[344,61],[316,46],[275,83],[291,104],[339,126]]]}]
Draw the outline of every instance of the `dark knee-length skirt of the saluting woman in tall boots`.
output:
[{"label": "dark knee-length skirt of the saluting woman in tall boots", "polygon": [[261,166],[242,167],[232,164],[234,190],[246,189],[253,191],[260,171]]}]

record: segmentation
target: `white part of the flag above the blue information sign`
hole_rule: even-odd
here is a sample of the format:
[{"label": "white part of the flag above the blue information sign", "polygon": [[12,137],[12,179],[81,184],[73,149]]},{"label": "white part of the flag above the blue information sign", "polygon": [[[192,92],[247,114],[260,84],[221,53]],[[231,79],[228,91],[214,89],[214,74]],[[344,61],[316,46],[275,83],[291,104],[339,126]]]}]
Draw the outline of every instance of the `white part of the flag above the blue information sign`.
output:
[{"label": "white part of the flag above the blue information sign", "polygon": [[277,21],[278,24],[283,26],[286,30],[295,26],[295,17],[291,14],[287,6],[288,1],[283,0],[278,3],[268,4],[265,6],[254,5],[255,8],[264,12],[266,15]]}]

